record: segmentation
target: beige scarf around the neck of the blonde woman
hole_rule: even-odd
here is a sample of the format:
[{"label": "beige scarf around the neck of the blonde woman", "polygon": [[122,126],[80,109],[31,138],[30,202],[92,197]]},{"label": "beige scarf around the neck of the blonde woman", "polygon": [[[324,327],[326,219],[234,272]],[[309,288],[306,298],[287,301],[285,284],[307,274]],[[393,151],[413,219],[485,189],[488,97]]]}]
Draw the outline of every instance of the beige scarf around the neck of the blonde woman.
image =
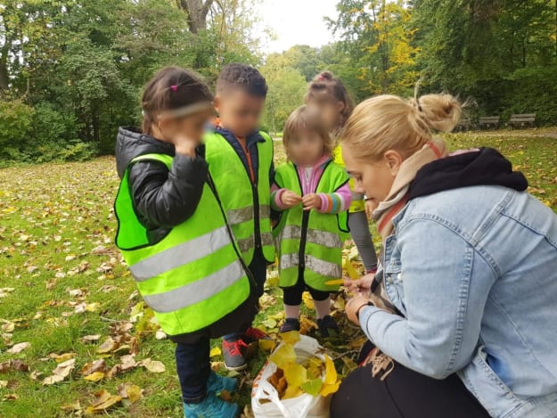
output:
[{"label": "beige scarf around the neck of the blonde woman", "polygon": [[418,170],[431,161],[447,155],[445,141],[433,138],[429,143],[423,145],[420,151],[404,160],[390,188],[389,195],[373,211],[373,220],[377,222],[377,229],[383,240],[394,232],[392,219],[405,207],[410,183],[414,180]]}]

